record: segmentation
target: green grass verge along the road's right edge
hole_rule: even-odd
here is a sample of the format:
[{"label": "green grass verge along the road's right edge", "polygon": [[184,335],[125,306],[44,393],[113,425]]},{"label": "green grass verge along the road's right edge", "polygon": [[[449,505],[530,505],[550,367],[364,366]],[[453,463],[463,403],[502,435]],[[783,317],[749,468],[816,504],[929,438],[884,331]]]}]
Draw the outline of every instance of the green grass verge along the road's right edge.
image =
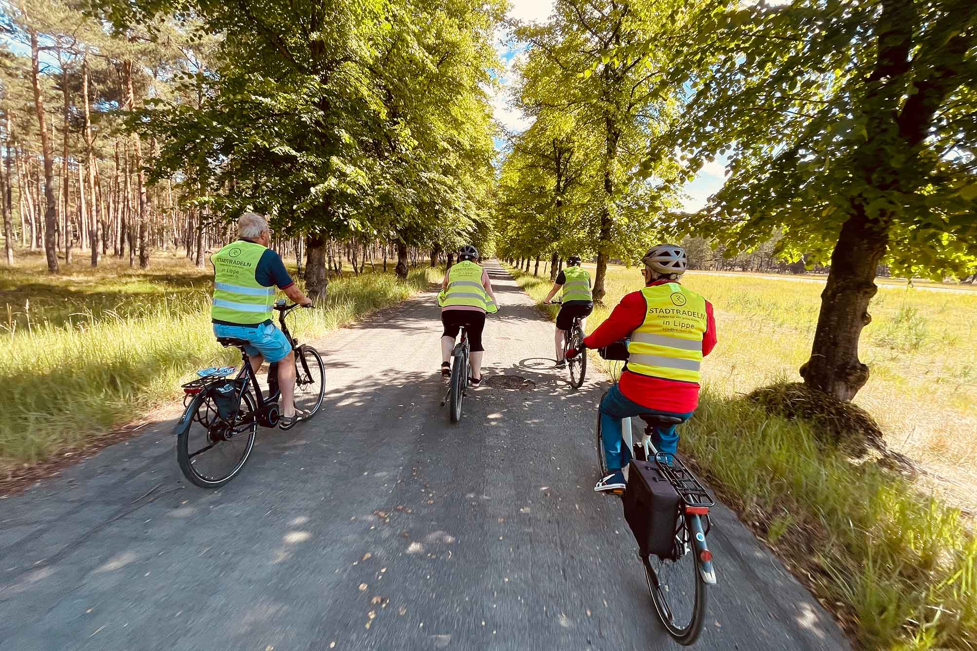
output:
[{"label": "green grass verge along the road's right edge", "polygon": [[[509,270],[537,304],[545,298],[548,279]],[[607,314],[596,308],[587,330]],[[959,510],[709,385],[682,447],[864,648],[977,648],[977,537]]]}]

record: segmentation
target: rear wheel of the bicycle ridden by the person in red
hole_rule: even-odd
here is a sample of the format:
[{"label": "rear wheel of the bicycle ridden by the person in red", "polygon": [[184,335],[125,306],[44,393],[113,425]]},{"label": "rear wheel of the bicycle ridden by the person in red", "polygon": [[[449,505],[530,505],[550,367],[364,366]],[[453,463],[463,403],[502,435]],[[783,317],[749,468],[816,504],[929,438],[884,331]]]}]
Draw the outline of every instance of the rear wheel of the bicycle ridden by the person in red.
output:
[{"label": "rear wheel of the bicycle ridden by the person in red", "polygon": [[686,518],[680,518],[676,545],[681,555],[675,559],[644,558],[648,591],[665,631],[679,644],[693,644],[705,619],[705,587],[696,549],[691,544]]}]

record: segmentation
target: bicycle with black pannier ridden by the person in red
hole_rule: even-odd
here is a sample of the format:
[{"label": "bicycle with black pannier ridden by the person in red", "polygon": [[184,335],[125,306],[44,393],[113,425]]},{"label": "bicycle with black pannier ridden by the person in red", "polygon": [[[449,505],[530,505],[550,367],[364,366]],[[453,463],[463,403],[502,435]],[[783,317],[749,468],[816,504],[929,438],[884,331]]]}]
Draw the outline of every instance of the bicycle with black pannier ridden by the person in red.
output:
[{"label": "bicycle with black pannier ridden by the person in red", "polygon": [[[609,353],[612,347],[616,351]],[[627,358],[626,346],[616,343],[609,348],[600,350],[605,359]],[[678,512],[670,549],[661,554],[643,554],[639,549],[638,557],[645,567],[645,579],[658,619],[676,642],[688,646],[699,638],[702,631],[706,587],[716,584],[712,552],[705,544],[705,537],[711,529],[709,509],[715,506],[715,502],[681,459],[673,454],[659,453],[652,444],[656,428],[672,427],[682,420],[660,414],[641,414],[637,418],[645,422],[644,435],[641,440],[633,440],[631,419],[622,419],[621,450],[626,445],[635,462],[645,464],[648,470],[657,471],[658,477],[670,483],[678,493]],[[601,437],[600,413],[597,416],[596,447],[598,467],[604,477],[608,469]],[[619,491],[615,493],[622,495]],[[627,496],[624,499],[627,500]]]}]

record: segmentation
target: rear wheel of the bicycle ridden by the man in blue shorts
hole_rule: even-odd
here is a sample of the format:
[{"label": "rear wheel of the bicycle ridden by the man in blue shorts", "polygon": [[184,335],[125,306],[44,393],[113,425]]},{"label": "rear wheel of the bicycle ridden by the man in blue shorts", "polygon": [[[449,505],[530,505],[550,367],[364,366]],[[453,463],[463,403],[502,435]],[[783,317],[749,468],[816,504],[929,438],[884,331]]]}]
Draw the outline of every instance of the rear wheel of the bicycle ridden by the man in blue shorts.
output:
[{"label": "rear wheel of the bicycle ridden by the man in blue shorts", "polygon": [[254,398],[247,388],[241,393],[237,415],[230,424],[220,419],[205,392],[193,398],[177,435],[177,463],[191,482],[202,488],[217,488],[244,468],[258,430],[255,411]]}]

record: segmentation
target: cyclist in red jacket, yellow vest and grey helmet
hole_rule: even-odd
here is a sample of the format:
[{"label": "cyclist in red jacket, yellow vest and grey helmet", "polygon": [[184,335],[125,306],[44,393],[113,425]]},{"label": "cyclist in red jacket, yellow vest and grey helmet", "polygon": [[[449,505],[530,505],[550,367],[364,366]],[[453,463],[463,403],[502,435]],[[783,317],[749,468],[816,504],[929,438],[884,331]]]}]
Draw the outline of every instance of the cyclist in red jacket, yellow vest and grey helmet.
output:
[{"label": "cyclist in red jacket, yellow vest and grey helmet", "polygon": [[[609,346],[630,338],[628,360],[620,382],[601,400],[601,435],[609,474],[595,491],[624,488],[624,468],[630,450],[621,450],[621,419],[660,414],[689,419],[699,406],[702,357],[716,345],[712,304],[683,287],[685,250],[674,244],[652,247],[642,259],[644,289],[621,299],[611,316],[589,337],[583,348]],[[568,357],[579,351],[570,349]],[[658,452],[675,454],[675,427],[657,427],[652,443]]]}]

